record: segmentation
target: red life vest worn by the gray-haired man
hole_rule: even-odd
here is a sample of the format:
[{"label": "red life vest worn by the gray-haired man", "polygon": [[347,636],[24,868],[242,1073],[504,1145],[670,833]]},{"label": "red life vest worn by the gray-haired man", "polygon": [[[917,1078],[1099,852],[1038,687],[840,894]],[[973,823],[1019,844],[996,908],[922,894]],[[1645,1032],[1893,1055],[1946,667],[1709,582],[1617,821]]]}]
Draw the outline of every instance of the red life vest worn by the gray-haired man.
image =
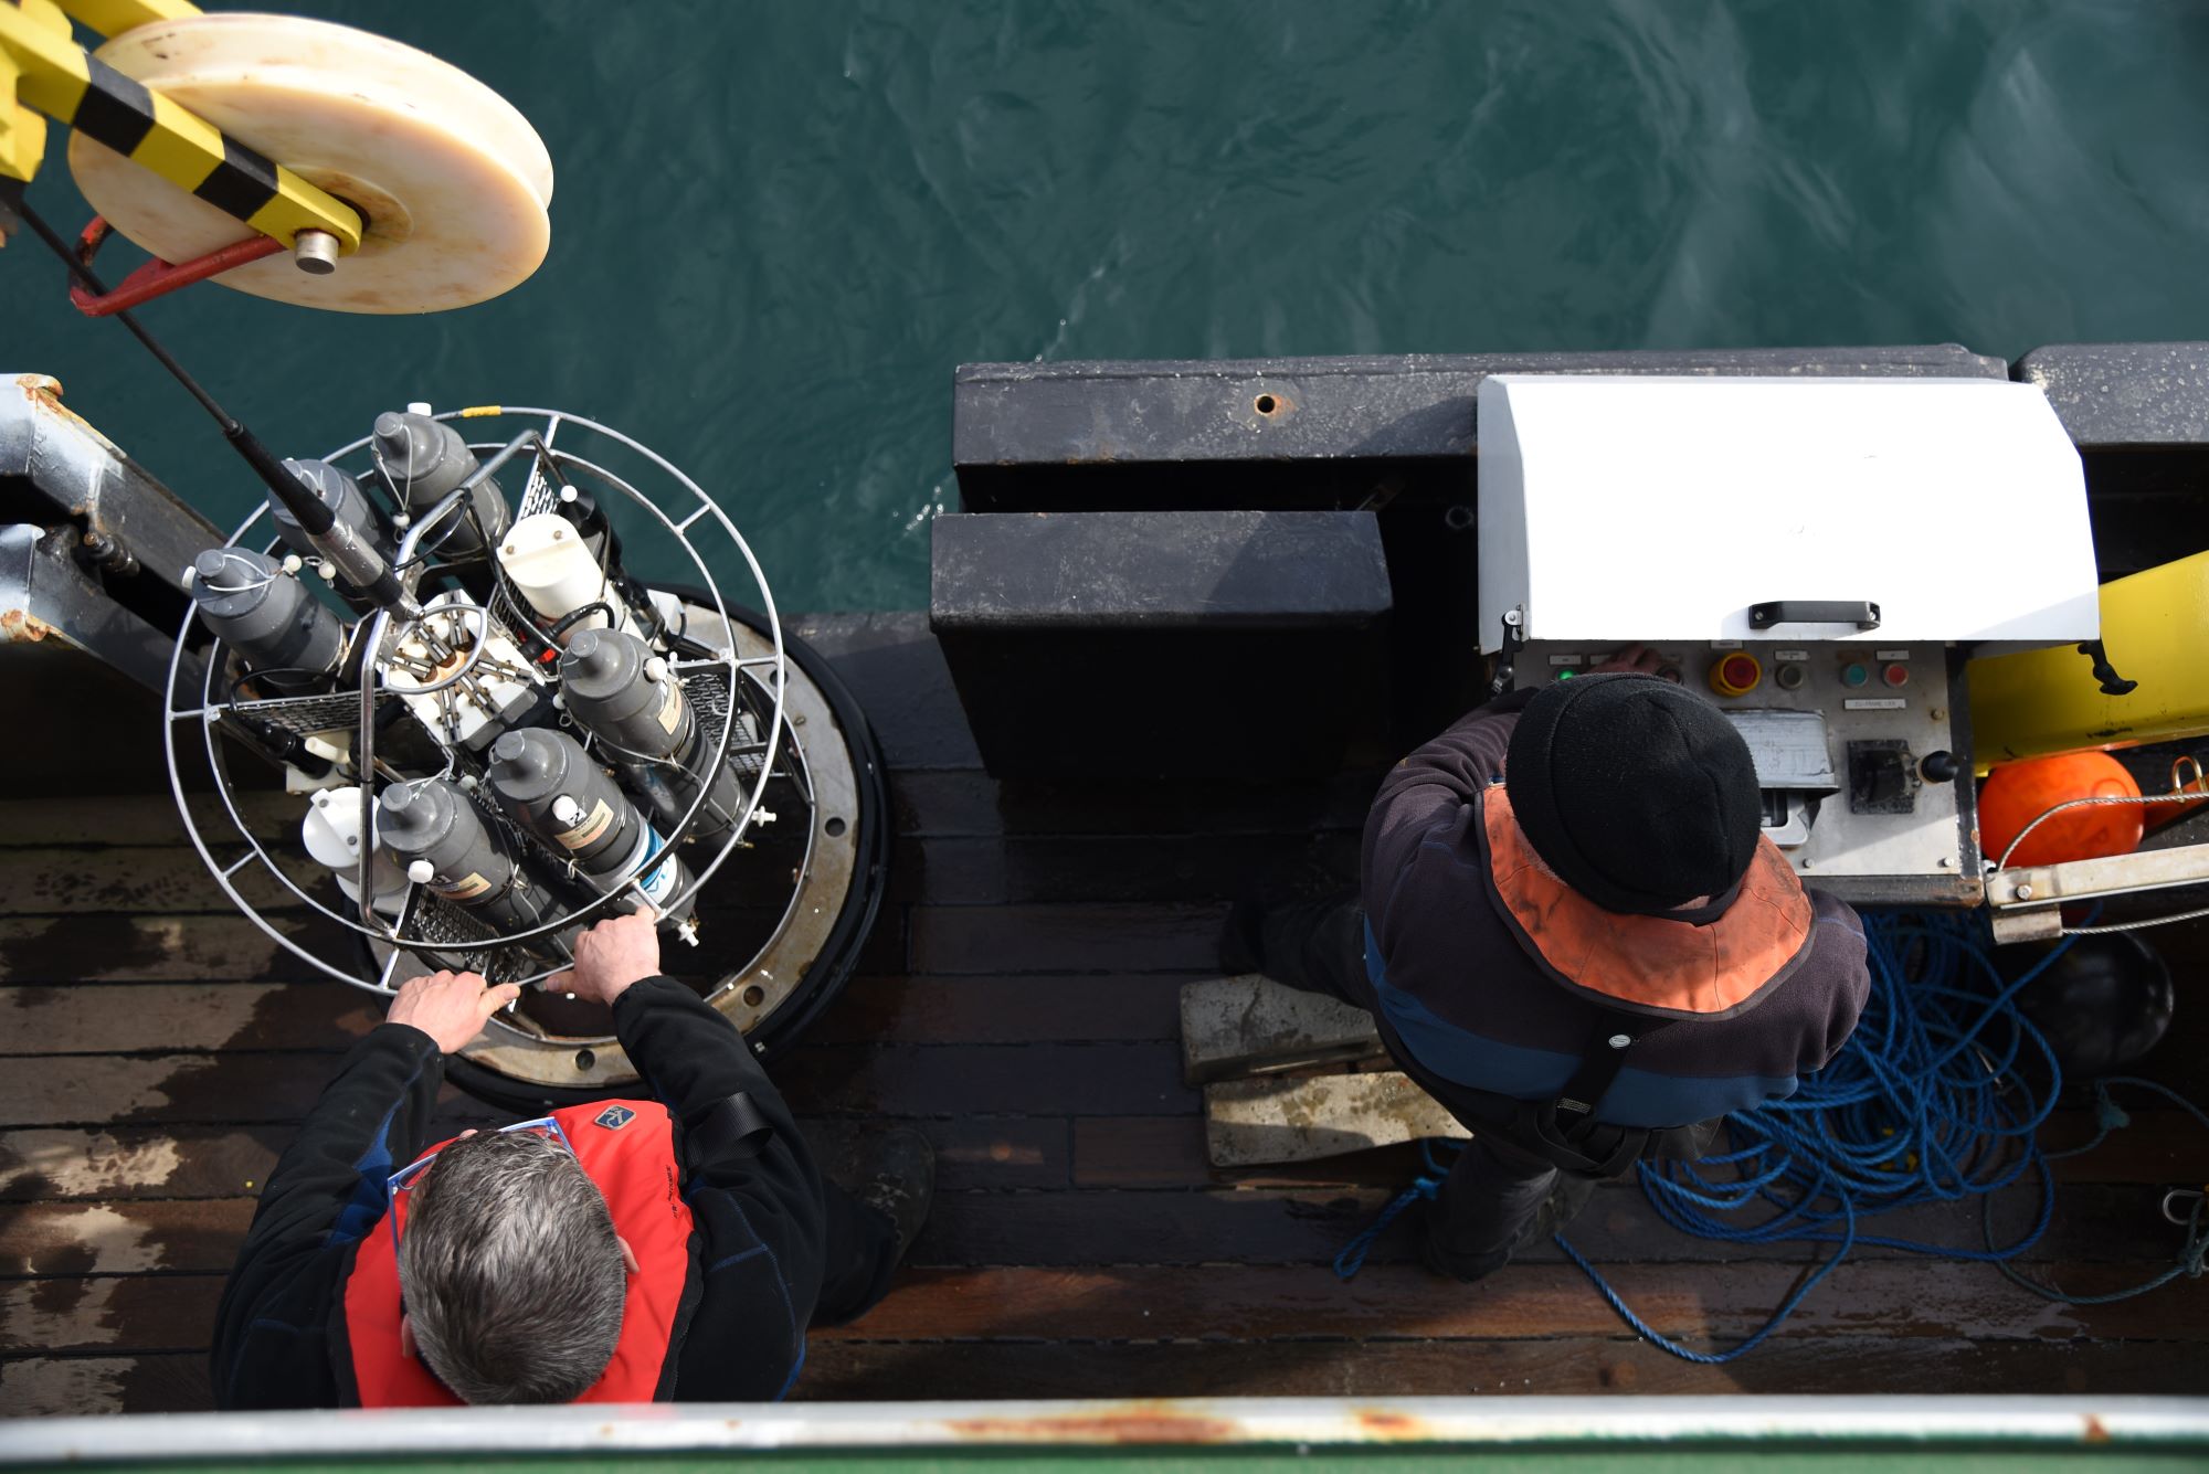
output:
[{"label": "red life vest worn by the gray-haired man", "polygon": [[[577,1401],[654,1401],[691,1267],[691,1211],[678,1192],[674,1121],[656,1101],[594,1101],[554,1110],[552,1119],[568,1134],[583,1172],[605,1194],[614,1231],[636,1253],[614,1359]],[[406,1194],[398,1194],[389,1214],[404,1233]],[[429,1366],[400,1350],[400,1267],[391,1222],[378,1220],[353,1251],[353,1269],[345,1280],[345,1339],[358,1406],[459,1406]]]}]

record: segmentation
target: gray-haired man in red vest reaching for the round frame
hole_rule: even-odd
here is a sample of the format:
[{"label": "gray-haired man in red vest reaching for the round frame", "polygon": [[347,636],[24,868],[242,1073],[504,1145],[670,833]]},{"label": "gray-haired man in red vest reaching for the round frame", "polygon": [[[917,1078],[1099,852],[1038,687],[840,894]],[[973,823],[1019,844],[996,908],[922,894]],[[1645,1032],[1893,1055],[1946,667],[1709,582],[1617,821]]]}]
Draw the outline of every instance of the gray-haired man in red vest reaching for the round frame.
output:
[{"label": "gray-haired man in red vest reaching for the round frame", "polygon": [[647,916],[583,933],[566,982],[614,1011],[652,1099],[424,1150],[444,1055],[517,991],[409,982],[261,1194],[219,1406],[769,1401],[806,1326],[884,1295],[928,1214],[926,1139],[888,1132],[859,1196],[824,1181],[729,1019],[660,975]]}]

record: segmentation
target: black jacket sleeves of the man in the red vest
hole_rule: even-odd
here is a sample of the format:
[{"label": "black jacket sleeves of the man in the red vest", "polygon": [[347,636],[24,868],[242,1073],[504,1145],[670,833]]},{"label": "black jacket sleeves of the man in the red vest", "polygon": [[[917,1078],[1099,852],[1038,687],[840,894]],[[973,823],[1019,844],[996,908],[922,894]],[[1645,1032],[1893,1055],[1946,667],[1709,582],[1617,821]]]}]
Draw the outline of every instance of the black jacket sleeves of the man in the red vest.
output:
[{"label": "black jacket sleeves of the man in the red vest", "polygon": [[[676,1399],[773,1401],[804,1364],[804,1333],[824,1300],[844,1313],[881,1293],[888,1256],[848,1284],[848,1198],[824,1187],[782,1094],[727,1017],[672,978],[647,978],[614,1002],[614,1030],[649,1094],[678,1121],[698,1309],[676,1348]],[[214,1324],[219,1408],[334,1408],[353,1245],[384,1214],[384,1183],[429,1145],[444,1059],[420,1028],[380,1024],[345,1057],[269,1174]],[[760,1143],[685,1132],[736,1092],[773,1128]],[[705,1145],[711,1143],[711,1145]],[[835,1194],[844,1211],[831,1211]],[[868,1225],[873,1227],[873,1225]],[[881,1231],[888,1233],[886,1220]],[[846,1260],[831,1273],[831,1256]],[[835,1309],[835,1306],[833,1306]]]}]

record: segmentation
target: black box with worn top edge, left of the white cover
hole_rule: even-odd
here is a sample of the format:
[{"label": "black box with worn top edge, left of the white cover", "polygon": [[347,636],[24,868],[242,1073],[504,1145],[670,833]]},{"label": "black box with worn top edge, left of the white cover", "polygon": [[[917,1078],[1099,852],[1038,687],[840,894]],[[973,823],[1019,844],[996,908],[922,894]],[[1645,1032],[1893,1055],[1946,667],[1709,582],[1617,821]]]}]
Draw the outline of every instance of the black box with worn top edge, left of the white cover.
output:
[{"label": "black box with worn top edge, left of the white cover", "polygon": [[1372,512],[950,514],[928,622],[998,779],[1323,777],[1383,730]]}]

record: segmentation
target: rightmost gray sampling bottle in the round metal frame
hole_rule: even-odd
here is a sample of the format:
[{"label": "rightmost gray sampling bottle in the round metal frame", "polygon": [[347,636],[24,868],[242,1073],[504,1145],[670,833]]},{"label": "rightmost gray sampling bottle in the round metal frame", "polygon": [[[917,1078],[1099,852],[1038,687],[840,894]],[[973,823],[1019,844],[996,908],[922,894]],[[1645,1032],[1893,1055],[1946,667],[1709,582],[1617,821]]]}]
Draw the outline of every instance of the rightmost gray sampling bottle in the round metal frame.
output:
[{"label": "rightmost gray sampling bottle in the round metal frame", "polygon": [[[599,737],[601,752],[630,775],[660,823],[674,830],[698,797],[700,783],[691,775],[714,757],[714,739],[667,662],[627,631],[583,629],[568,638],[559,677],[568,713]],[[742,812],[742,786],[736,770],[722,766],[691,839],[720,839]]]}]

